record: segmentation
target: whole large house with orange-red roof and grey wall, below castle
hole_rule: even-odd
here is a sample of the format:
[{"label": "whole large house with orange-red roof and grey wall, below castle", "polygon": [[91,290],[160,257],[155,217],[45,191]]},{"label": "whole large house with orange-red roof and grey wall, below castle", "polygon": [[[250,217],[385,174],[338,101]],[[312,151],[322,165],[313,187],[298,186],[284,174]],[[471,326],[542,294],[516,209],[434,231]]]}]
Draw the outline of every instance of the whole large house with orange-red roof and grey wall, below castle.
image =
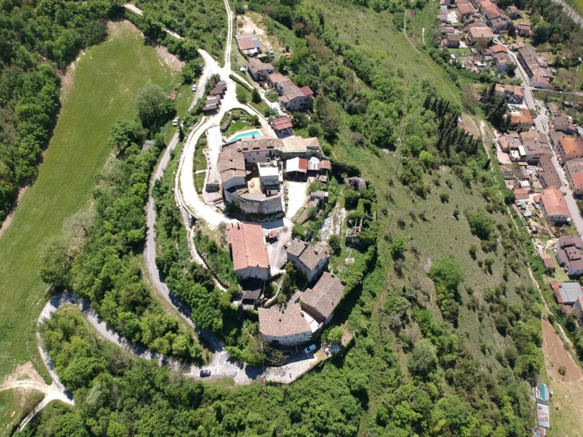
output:
[{"label": "whole large house with orange-red roof and grey wall, below castle", "polygon": [[237,277],[269,279],[271,265],[261,225],[231,223],[227,225],[227,242]]}]

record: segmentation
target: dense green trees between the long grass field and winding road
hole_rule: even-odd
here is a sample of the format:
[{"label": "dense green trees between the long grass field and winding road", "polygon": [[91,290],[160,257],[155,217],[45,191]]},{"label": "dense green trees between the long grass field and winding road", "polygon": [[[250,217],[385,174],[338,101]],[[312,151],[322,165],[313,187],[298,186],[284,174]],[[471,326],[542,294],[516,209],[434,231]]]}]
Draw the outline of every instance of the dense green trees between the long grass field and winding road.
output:
[{"label": "dense green trees between the long grass field and winding road", "polygon": [[73,216],[72,230],[50,243],[41,278],[92,302],[109,326],[135,343],[164,355],[200,360],[202,350],[191,334],[178,328],[142,281],[144,205],[150,174],[161,147],[141,151],[144,133],[138,121],[118,121],[110,146],[118,153],[103,170],[94,190],[94,214]]}]

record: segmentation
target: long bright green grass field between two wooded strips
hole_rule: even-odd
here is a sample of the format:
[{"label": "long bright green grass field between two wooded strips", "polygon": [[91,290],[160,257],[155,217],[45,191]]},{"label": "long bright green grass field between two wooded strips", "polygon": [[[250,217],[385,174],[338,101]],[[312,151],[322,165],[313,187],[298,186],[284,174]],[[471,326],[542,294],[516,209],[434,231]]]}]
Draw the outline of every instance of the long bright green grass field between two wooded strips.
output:
[{"label": "long bright green grass field between two wooded strips", "polygon": [[66,217],[89,204],[95,176],[110,154],[110,125],[132,117],[143,84],[170,91],[172,75],[127,23],[111,26],[110,38],[77,63],[37,181],[0,238],[0,376],[31,359],[46,375],[35,337],[47,290],[38,274],[41,248]]}]

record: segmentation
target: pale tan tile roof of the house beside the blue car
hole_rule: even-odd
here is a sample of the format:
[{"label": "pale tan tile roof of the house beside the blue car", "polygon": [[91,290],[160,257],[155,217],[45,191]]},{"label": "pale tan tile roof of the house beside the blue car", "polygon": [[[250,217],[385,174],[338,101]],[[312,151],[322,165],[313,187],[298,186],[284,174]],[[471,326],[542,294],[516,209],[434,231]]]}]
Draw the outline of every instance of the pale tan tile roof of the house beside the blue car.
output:
[{"label": "pale tan tile roof of the house beside the blue car", "polygon": [[258,308],[257,311],[259,312],[259,331],[265,336],[285,337],[311,332],[300,305],[287,305],[285,309]]}]

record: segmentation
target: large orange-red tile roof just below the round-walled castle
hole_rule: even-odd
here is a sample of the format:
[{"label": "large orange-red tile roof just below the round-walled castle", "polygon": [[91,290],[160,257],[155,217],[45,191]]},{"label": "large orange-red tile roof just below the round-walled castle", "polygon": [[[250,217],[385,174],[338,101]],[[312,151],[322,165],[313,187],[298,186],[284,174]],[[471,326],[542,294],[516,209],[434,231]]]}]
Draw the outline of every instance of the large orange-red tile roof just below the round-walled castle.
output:
[{"label": "large orange-red tile roof just below the round-walled castle", "polygon": [[261,226],[251,223],[227,225],[227,241],[233,253],[235,271],[246,267],[269,269],[269,255]]}]

